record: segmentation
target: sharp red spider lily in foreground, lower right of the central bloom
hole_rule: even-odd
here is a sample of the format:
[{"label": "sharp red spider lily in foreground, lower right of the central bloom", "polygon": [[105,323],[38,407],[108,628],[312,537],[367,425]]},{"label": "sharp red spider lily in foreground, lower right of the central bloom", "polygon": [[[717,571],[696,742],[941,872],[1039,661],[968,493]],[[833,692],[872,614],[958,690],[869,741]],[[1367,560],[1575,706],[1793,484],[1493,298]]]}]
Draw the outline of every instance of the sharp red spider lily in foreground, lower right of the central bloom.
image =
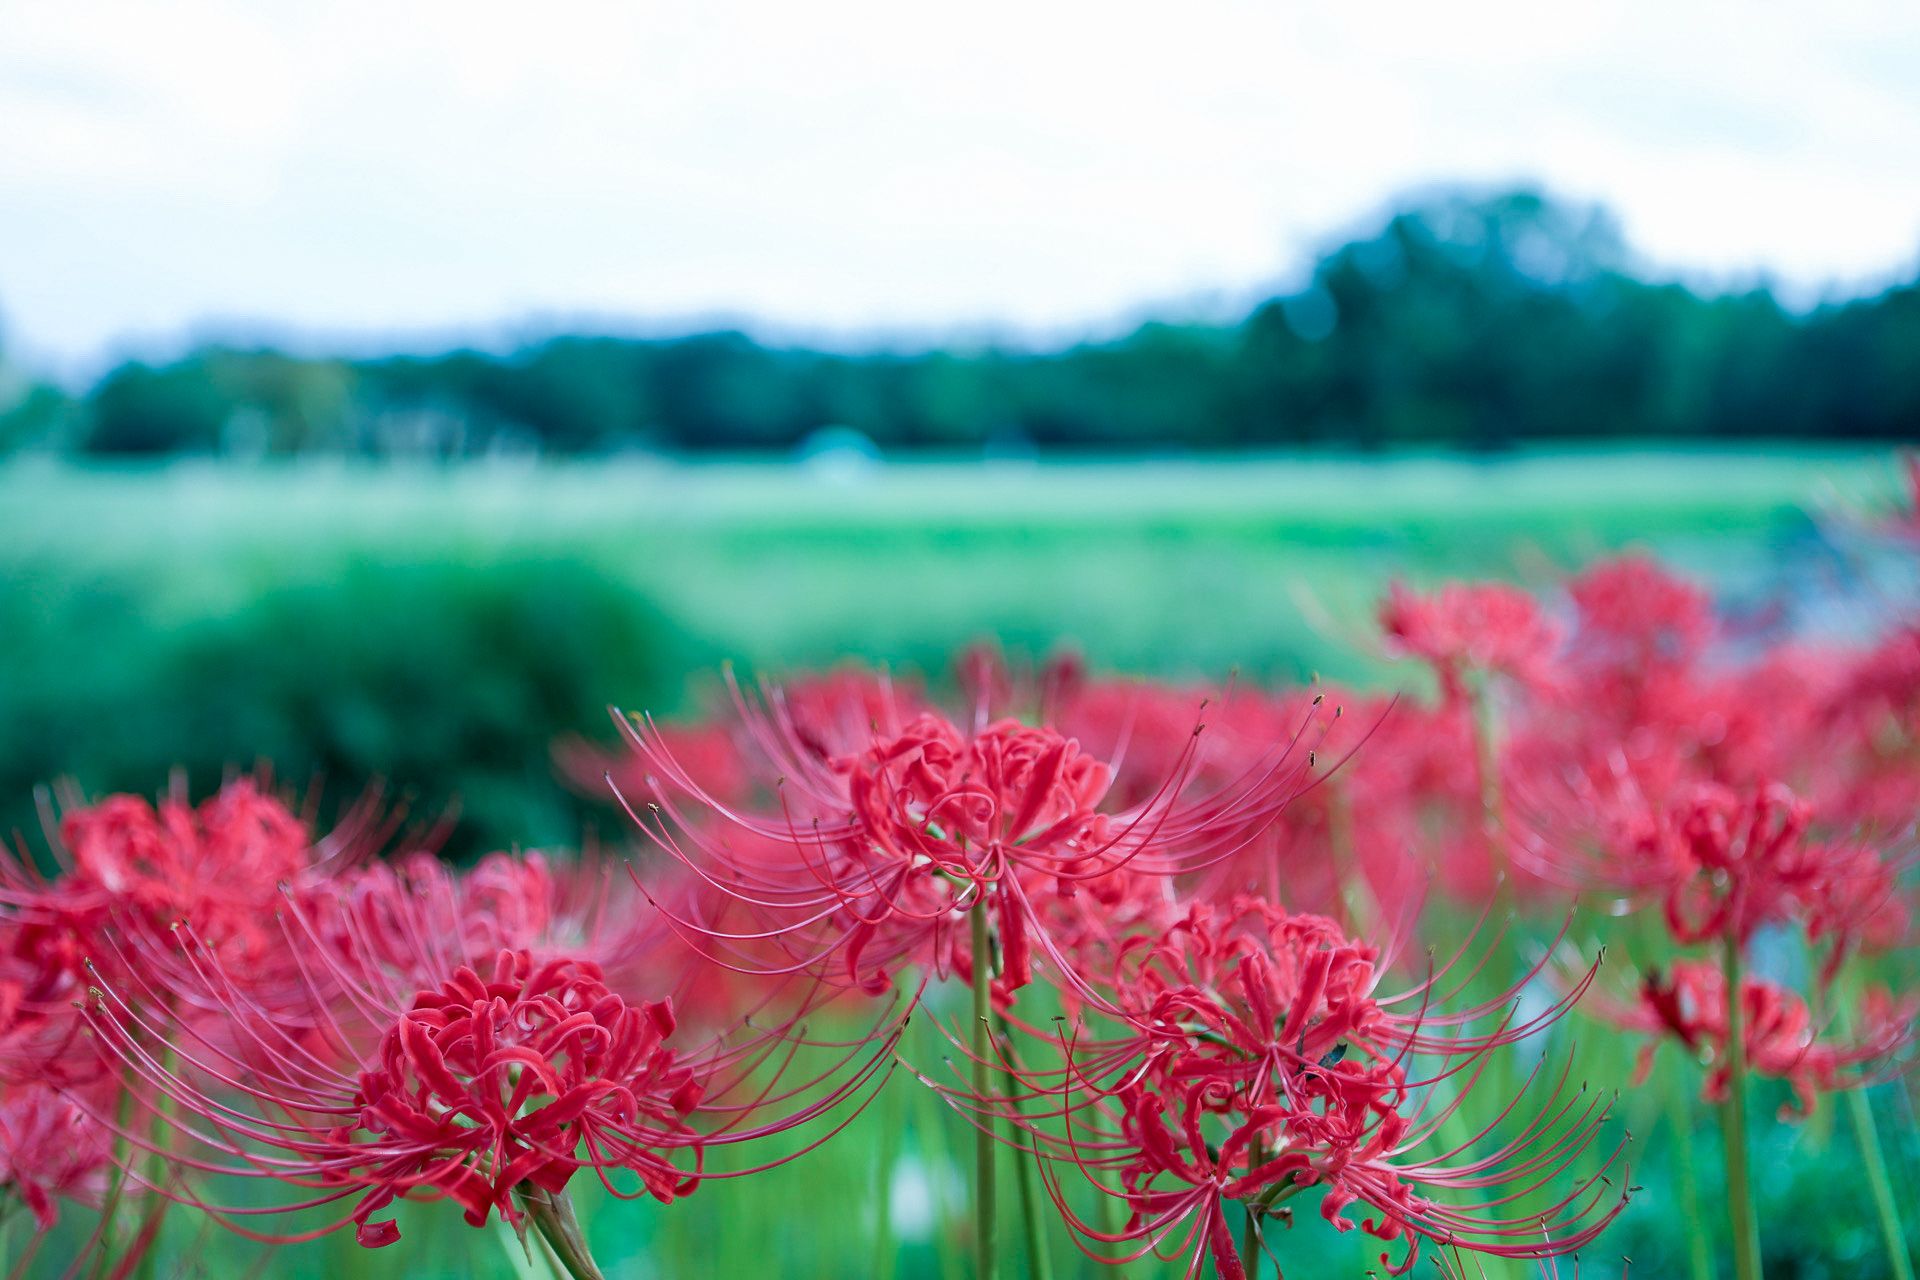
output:
[{"label": "sharp red spider lily in foreground, lower right of the central bloom", "polygon": [[[1582,1103],[1555,1086],[1494,1151],[1473,1151],[1490,1130],[1453,1150],[1425,1150],[1478,1082],[1486,1055],[1557,1019],[1578,992],[1524,1023],[1501,1017],[1476,1032],[1471,1025],[1505,1002],[1442,1013],[1452,996],[1438,992],[1446,971],[1379,996],[1379,960],[1325,917],[1244,896],[1221,912],[1192,906],[1165,933],[1125,938],[1112,963],[1089,965],[1112,973],[1091,1011],[1114,1034],[1062,1038],[1064,1063],[1050,1071],[1021,1071],[1010,1055],[996,1061],[1023,1086],[1014,1098],[935,1086],[981,1123],[1020,1126],[1089,1253],[1127,1249],[1112,1261],[1187,1255],[1196,1274],[1212,1257],[1221,1276],[1240,1276],[1227,1201],[1279,1217],[1283,1201],[1309,1188],[1321,1190],[1321,1213],[1338,1230],[1352,1230],[1346,1209],[1365,1203],[1375,1217],[1361,1230],[1407,1240],[1396,1272],[1411,1268],[1421,1240],[1511,1257],[1549,1257],[1592,1240],[1624,1205],[1603,1182],[1619,1150],[1551,1203],[1540,1192],[1592,1148],[1607,1115],[1599,1100]],[[1440,1103],[1440,1086],[1455,1096]],[[1069,1165],[1125,1203],[1123,1228],[1104,1230],[1069,1207]],[[1453,1207],[1440,1197],[1448,1190],[1480,1199]]]}]

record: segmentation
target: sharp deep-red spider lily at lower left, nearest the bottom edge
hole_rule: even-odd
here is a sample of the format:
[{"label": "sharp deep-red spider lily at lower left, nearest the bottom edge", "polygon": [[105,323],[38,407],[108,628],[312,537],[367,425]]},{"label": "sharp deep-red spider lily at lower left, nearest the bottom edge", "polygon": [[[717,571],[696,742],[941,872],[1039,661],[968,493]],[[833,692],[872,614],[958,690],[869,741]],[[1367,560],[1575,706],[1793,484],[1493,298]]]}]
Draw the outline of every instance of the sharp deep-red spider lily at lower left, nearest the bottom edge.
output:
[{"label": "sharp deep-red spider lily at lower left, nearest the bottom edge", "polygon": [[[536,963],[526,952],[499,952],[480,971],[459,965],[405,1007],[371,988],[342,990],[355,1007],[324,1002],[303,1032],[269,1025],[234,994],[232,1044],[177,1029],[180,1065],[150,1044],[163,1027],[115,996],[96,998],[86,1017],[142,1098],[163,1094],[179,1109],[182,1119],[154,1111],[175,1136],[171,1159],[317,1190],[284,1209],[359,1196],[351,1221],[365,1245],[399,1236],[372,1217],[396,1196],[445,1196],[474,1226],[493,1211],[518,1222],[522,1182],[559,1192],[582,1163],[632,1171],[660,1199],[691,1190],[668,1157],[699,1150],[684,1119],[699,1084],[664,1044],[666,1004],[630,1006],[595,965]],[[257,1209],[209,1213],[236,1221]]]}]

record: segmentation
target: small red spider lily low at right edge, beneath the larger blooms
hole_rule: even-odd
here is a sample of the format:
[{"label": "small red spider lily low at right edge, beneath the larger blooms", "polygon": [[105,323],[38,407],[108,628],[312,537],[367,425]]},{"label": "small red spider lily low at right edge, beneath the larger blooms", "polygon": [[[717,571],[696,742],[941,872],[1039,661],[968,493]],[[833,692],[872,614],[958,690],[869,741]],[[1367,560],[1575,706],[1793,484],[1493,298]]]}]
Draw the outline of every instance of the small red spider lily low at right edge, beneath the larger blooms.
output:
[{"label": "small red spider lily low at right edge, beneath the larger blooms", "polygon": [[[1857,1032],[1849,1040],[1822,1038],[1807,1009],[1793,992],[1747,975],[1740,983],[1741,1040],[1753,1073],[1786,1080],[1793,1088],[1791,1102],[1780,1107],[1782,1119],[1812,1111],[1818,1094],[1853,1088],[1872,1080],[1862,1067],[1885,1067],[1912,1042],[1914,1015],[1920,998],[1895,1000],[1885,990],[1868,990],[1855,1017]],[[1653,1069],[1653,1054],[1663,1040],[1678,1040],[1690,1055],[1709,1065],[1701,1098],[1726,1102],[1728,1096],[1728,1007],[1726,975],[1718,965],[1701,960],[1680,960],[1670,977],[1649,973],[1632,1006],[1594,1006],[1613,1023],[1655,1036],[1640,1050],[1644,1082]]]}]

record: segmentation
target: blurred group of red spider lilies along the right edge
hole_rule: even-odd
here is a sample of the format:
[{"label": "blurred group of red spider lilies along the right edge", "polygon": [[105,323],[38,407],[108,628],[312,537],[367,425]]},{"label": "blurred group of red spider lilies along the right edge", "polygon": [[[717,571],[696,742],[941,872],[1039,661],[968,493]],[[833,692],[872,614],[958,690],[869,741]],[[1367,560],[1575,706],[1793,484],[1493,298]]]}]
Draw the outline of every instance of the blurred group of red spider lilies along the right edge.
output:
[{"label": "blurred group of red spider lilies along the right edge", "polygon": [[[1709,967],[1684,956],[1665,973],[1674,950],[1734,948],[1745,963],[1757,938],[1797,935],[1814,954],[1830,1021],[1847,961],[1910,935],[1916,631],[1893,628],[1851,649],[1757,645],[1728,633],[1699,587],[1622,557],[1567,583],[1565,639],[1542,647],[1551,628],[1524,622],[1511,589],[1498,591],[1498,610],[1469,610],[1465,589],[1448,587],[1396,593],[1382,614],[1390,643],[1436,670],[1440,704],[1419,714],[1446,722],[1476,693],[1469,710],[1492,712],[1452,718],[1453,758],[1476,766],[1409,787],[1428,808],[1455,812],[1476,789],[1486,810],[1486,839],[1438,850],[1440,883],[1473,894],[1503,877],[1521,902],[1582,890],[1649,910],[1663,944],[1620,938],[1645,971],[1640,994],[1597,1007],[1703,1057],[1705,1092],[1720,1098],[1728,984],[1724,973],[1707,983]],[[1475,672],[1486,681],[1478,691],[1467,681]],[[1361,764],[1354,787],[1367,773]],[[1761,1019],[1741,1023],[1749,1065],[1789,1080],[1795,1111],[1816,1092],[1874,1079],[1857,1069],[1895,1059],[1912,1036],[1912,1002],[1885,992],[1864,998],[1851,1036],[1812,1021],[1774,981],[1745,975],[1741,1000]]]}]

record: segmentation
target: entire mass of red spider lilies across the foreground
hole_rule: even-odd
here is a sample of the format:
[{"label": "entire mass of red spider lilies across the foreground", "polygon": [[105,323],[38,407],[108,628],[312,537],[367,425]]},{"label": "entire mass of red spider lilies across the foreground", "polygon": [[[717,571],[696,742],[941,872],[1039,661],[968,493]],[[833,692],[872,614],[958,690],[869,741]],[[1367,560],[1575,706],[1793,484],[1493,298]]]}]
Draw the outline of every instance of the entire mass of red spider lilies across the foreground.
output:
[{"label": "entire mass of red spider lilies across the foreground", "polygon": [[1644,558],[1396,587],[1379,624],[1421,693],[987,652],[958,712],[730,677],[701,722],[561,748],[632,865],[455,871],[372,802],[323,837],[252,779],[69,804],[0,860],[0,1184],[131,1249],[182,1203],[382,1245],[442,1197],[593,1274],[576,1176],[670,1201],[741,1173],[724,1148],[831,1136],[924,1007],[950,1052],[912,1075],[1091,1257],[1238,1280],[1309,1196],[1388,1270],[1459,1272],[1551,1267],[1626,1205],[1613,1096],[1521,1050],[1580,1002],[1713,1102],[1899,1069],[1920,1007],[1868,977],[1910,931],[1920,629],[1768,643]]}]

